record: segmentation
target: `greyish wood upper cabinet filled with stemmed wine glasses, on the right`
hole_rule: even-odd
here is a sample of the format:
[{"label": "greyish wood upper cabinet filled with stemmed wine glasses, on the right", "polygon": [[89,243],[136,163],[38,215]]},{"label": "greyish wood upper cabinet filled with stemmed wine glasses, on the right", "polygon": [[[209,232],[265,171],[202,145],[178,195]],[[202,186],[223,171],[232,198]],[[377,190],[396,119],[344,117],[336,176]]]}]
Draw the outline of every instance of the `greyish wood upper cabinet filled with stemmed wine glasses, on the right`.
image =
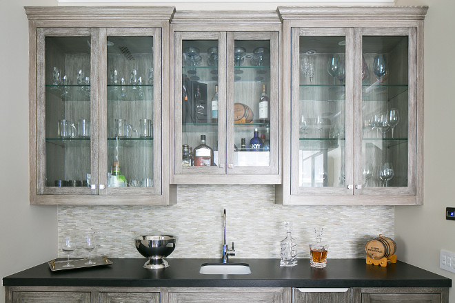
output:
[{"label": "greyish wood upper cabinet filled with stemmed wine glasses, on the right", "polygon": [[277,202],[422,203],[426,10],[279,8],[290,119]]}]

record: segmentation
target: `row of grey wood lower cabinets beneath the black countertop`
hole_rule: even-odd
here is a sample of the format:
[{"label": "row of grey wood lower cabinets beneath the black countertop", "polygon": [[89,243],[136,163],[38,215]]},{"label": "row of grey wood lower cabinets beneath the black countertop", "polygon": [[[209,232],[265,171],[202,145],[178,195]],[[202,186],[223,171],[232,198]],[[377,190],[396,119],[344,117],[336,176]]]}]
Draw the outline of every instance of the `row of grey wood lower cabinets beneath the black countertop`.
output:
[{"label": "row of grey wood lower cabinets beneath the black countertop", "polygon": [[448,303],[448,288],[6,286],[6,303]]}]

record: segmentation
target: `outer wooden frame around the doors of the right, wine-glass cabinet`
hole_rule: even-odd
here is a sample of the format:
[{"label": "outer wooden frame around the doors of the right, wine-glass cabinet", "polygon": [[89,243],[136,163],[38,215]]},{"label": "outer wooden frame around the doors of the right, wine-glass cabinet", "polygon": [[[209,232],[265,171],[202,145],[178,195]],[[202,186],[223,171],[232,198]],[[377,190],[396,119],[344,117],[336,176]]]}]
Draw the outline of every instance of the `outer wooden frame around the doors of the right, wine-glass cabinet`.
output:
[{"label": "outer wooden frame around the doors of the right, wine-glass cabinet", "polygon": [[[315,7],[305,8],[279,7],[279,14],[283,19],[283,66],[291,66],[292,28],[325,28],[327,24],[336,23],[336,27],[343,28],[414,28],[416,31],[416,166],[415,182],[416,194],[394,196],[359,195],[294,195],[291,190],[292,158],[289,152],[283,152],[283,185],[276,185],[275,200],[283,205],[422,205],[423,204],[423,20],[427,6],[412,7]],[[411,40],[410,40],[411,43]],[[283,72],[283,83],[291,83],[290,72]],[[292,107],[290,90],[283,88],[283,115],[290,116]],[[290,146],[290,121],[283,121],[283,151]],[[412,130],[410,129],[410,132]],[[357,133],[356,133],[357,134]],[[414,135],[413,135],[414,136]],[[353,185],[354,186],[354,185]],[[354,189],[354,191],[359,189]]]}]

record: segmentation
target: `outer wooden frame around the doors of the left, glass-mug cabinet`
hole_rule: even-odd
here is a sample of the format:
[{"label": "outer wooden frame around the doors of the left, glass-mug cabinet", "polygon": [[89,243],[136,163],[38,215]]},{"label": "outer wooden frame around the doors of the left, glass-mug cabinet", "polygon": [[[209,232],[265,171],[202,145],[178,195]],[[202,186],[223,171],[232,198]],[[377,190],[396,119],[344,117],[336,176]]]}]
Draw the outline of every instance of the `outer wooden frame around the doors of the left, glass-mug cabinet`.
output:
[{"label": "outer wooden frame around the doors of the left, glass-mug cabinet", "polygon": [[[169,94],[167,88],[169,85],[169,78],[165,75],[169,72],[169,44],[164,43],[170,34],[169,21],[175,12],[173,7],[26,7],[26,14],[29,21],[29,154],[30,154],[30,204],[31,205],[171,205],[176,203],[176,185],[170,185],[170,171],[169,160],[170,155],[167,152],[161,152],[161,158],[156,159],[161,164],[161,170],[157,174],[161,174],[161,187],[155,194],[150,192],[121,192],[120,195],[112,191],[115,195],[99,194],[40,194],[38,191],[38,182],[41,175],[38,175],[37,168],[37,154],[41,152],[38,149],[38,108],[37,98],[42,92],[39,91],[38,81],[39,75],[37,74],[37,32],[39,29],[51,30],[74,30],[78,31],[83,28],[93,29],[99,35],[102,30],[112,28],[129,28],[130,33],[134,28],[156,28],[161,34],[163,43],[161,43],[161,56],[156,61],[160,61],[161,76],[161,111],[157,114],[161,116],[161,128],[159,125],[154,125],[154,135],[159,132],[157,136],[161,136],[161,149],[166,151],[170,145],[168,136],[169,134]],[[132,27],[132,23],[134,26]],[[95,37],[96,43],[100,43],[100,37]],[[105,45],[105,42],[104,42]],[[97,50],[101,49],[102,45],[97,45]],[[92,48],[93,50],[94,48]],[[94,58],[92,58],[94,60]],[[101,59],[106,61],[106,58]],[[97,59],[97,62],[101,62]],[[105,64],[105,63],[103,63]],[[156,65],[155,65],[156,67]],[[92,67],[93,68],[93,65]],[[98,73],[104,74],[105,71],[100,69]],[[98,75],[99,79],[95,83],[100,83],[101,77],[105,75]],[[92,74],[93,77],[93,74]],[[92,78],[92,83],[94,79]],[[97,90],[105,90],[103,85],[92,85],[92,98],[95,95],[100,96],[104,94]],[[95,87],[97,86],[97,87]],[[99,86],[99,87],[98,87]],[[155,93],[156,96],[156,93]],[[102,103],[102,101],[99,101]],[[98,111],[99,112],[99,111]],[[92,112],[94,114],[94,112]],[[93,119],[91,117],[91,119]],[[98,121],[94,118],[92,121]],[[101,126],[101,125],[99,125]],[[93,125],[91,127],[92,134],[94,134]],[[102,129],[97,129],[100,132]],[[164,135],[163,135],[164,134]],[[97,136],[99,138],[99,136]],[[41,139],[40,139],[41,140]],[[93,143],[94,144],[94,141]],[[97,142],[98,144],[98,142]],[[98,149],[99,147],[97,147]],[[93,152],[93,151],[92,151]],[[106,155],[107,156],[107,155]],[[92,162],[92,165],[94,163]],[[97,162],[97,165],[100,165]],[[101,171],[98,169],[98,171]],[[107,171],[107,170],[106,170]],[[93,179],[92,179],[93,180]],[[99,180],[98,180],[99,181]],[[97,188],[100,183],[97,183]],[[107,184],[106,184],[107,185]]]}]

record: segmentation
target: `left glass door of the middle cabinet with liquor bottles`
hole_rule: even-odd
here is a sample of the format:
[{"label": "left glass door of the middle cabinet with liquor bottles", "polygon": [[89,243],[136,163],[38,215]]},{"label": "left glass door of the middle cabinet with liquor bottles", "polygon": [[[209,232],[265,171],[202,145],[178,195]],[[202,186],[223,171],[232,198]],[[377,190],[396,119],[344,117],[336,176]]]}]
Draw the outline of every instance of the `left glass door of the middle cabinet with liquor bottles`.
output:
[{"label": "left glass door of the middle cabinet with liquor bottles", "polygon": [[225,33],[176,32],[174,62],[174,172],[225,174]]}]

